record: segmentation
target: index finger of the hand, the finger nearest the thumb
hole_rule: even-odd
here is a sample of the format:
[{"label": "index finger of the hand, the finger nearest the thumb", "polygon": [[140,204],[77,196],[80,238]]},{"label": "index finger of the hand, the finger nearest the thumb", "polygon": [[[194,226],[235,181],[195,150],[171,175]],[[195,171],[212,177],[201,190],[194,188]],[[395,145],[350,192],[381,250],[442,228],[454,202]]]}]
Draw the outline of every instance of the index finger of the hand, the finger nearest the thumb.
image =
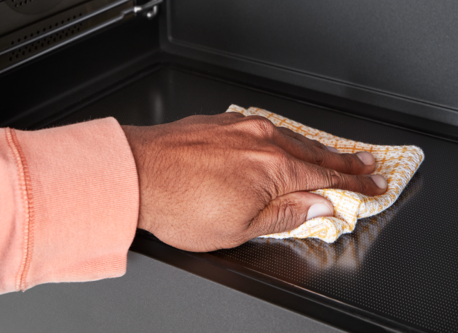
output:
[{"label": "index finger of the hand, the finger nearest the thumb", "polygon": [[271,180],[274,196],[316,189],[345,189],[366,196],[380,196],[387,191],[387,180],[380,175],[348,175],[294,157],[280,160],[277,166]]}]

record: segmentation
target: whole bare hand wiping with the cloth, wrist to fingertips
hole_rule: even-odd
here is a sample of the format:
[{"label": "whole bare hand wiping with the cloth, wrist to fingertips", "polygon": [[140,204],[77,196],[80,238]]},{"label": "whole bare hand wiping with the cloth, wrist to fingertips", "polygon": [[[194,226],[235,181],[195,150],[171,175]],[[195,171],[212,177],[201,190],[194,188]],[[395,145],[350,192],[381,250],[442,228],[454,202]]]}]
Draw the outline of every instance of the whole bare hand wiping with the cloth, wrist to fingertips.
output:
[{"label": "whole bare hand wiping with the cloth, wrist to fingertips", "polygon": [[332,216],[316,189],[378,196],[371,153],[339,154],[263,117],[237,112],[122,126],[139,176],[138,228],[183,250],[232,248]]}]

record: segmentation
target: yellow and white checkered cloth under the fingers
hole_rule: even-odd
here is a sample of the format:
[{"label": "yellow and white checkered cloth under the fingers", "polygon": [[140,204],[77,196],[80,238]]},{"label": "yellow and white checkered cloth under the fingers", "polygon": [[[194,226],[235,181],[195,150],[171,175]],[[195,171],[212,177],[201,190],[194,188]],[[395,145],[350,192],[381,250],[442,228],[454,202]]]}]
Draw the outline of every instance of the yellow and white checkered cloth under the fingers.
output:
[{"label": "yellow and white checkered cloth under the fingers", "polygon": [[340,153],[368,151],[375,157],[376,167],[374,173],[384,176],[388,182],[387,192],[381,196],[364,196],[352,191],[344,191],[343,189],[312,191],[312,193],[319,194],[330,200],[334,206],[334,216],[317,217],[306,221],[294,230],[279,234],[268,234],[262,236],[264,238],[314,237],[332,243],[341,234],[352,232],[355,229],[357,219],[373,216],[393,205],[425,158],[421,148],[416,146],[375,146],[374,144],[364,144],[343,139],[258,108],[246,110],[237,105],[230,105],[226,112],[239,112],[245,116],[258,115],[266,117],[275,126],[294,130],[294,132],[302,134],[309,139],[337,148]]}]

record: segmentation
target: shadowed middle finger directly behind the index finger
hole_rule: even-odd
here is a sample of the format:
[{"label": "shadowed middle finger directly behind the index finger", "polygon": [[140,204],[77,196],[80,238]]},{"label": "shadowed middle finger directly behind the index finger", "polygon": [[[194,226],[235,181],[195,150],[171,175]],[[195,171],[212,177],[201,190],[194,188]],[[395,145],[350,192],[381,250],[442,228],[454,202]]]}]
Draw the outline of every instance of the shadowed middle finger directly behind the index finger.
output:
[{"label": "shadowed middle finger directly behind the index finger", "polygon": [[[287,128],[279,128],[279,132],[274,138],[275,144],[299,160],[349,175],[368,175],[375,170],[375,158],[366,151],[355,154],[339,154],[331,151],[327,146],[294,133]],[[335,150],[335,148],[332,149]]]}]

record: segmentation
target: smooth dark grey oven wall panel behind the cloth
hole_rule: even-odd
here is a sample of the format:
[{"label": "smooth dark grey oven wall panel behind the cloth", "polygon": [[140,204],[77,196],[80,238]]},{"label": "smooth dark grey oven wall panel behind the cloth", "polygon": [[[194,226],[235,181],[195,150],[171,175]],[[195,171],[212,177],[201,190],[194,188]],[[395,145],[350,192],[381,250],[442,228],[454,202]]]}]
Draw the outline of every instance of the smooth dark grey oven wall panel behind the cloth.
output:
[{"label": "smooth dark grey oven wall panel behind the cloth", "polygon": [[458,2],[167,1],[171,53],[458,125]]}]

